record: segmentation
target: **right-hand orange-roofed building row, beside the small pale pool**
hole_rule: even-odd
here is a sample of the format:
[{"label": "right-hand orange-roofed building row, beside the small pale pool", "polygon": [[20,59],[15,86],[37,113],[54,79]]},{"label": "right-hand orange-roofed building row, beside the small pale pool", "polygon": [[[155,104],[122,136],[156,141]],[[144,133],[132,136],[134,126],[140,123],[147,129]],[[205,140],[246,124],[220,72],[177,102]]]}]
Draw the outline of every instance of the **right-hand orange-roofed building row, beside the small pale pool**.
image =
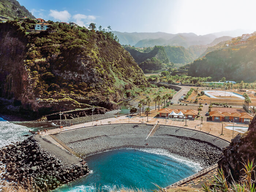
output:
[{"label": "right-hand orange-roofed building row, beside the small pale pool", "polygon": [[249,122],[253,119],[253,116],[249,113],[228,113],[228,112],[219,112],[219,111],[211,111],[210,116],[212,117],[212,121],[231,121],[234,123],[245,123],[249,124]]}]

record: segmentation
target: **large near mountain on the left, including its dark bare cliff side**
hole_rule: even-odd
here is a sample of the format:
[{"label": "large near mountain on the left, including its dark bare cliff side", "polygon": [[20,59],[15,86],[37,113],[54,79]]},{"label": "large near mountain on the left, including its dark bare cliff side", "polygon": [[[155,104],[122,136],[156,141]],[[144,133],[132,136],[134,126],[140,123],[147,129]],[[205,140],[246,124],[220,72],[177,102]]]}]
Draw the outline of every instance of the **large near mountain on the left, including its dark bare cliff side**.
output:
[{"label": "large near mountain on the left, including its dark bare cliff side", "polygon": [[113,33],[61,23],[50,26],[55,33],[27,33],[30,25],[0,24],[0,95],[22,110],[43,115],[93,105],[116,109],[129,90],[146,85]]}]

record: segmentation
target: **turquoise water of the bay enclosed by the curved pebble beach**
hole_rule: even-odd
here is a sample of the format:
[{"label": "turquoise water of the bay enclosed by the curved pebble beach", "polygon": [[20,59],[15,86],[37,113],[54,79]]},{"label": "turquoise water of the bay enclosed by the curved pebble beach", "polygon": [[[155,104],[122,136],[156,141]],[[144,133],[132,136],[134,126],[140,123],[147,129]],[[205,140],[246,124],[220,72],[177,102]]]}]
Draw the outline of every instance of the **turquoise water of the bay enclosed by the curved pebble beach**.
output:
[{"label": "turquoise water of the bay enclosed by the curved pebble beach", "polygon": [[92,173],[55,191],[112,191],[122,187],[150,191],[156,189],[152,182],[166,187],[202,169],[199,164],[163,154],[166,151],[125,148],[91,155],[85,160]]}]

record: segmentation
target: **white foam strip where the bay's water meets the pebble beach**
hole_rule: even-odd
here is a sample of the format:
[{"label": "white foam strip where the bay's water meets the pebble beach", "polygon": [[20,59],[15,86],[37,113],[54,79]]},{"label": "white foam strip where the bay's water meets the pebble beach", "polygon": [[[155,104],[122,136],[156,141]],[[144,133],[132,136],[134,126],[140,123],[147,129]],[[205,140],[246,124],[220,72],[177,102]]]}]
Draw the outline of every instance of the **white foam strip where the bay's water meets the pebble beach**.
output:
[{"label": "white foam strip where the bay's water meets the pebble beach", "polygon": [[171,159],[173,159],[174,161],[180,162],[180,163],[184,163],[185,165],[187,165],[188,167],[191,167],[193,169],[193,171],[195,172],[199,172],[200,170],[203,169],[203,167],[201,167],[201,165],[199,163],[195,163],[192,161],[188,161],[176,154],[170,154],[169,151],[164,150],[164,149],[139,149],[140,151],[144,151],[147,153],[153,153],[153,154],[157,154],[157,155],[164,155],[167,156]]}]

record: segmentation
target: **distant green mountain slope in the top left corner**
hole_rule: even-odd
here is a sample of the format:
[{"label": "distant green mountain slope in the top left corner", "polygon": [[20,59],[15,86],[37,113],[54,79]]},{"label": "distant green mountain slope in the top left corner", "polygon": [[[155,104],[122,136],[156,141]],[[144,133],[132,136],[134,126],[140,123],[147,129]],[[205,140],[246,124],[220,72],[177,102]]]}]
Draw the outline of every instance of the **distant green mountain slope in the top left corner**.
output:
[{"label": "distant green mountain slope in the top left corner", "polygon": [[21,6],[18,1],[0,1],[0,20],[22,18],[24,16],[35,19],[35,17],[24,6]]}]

